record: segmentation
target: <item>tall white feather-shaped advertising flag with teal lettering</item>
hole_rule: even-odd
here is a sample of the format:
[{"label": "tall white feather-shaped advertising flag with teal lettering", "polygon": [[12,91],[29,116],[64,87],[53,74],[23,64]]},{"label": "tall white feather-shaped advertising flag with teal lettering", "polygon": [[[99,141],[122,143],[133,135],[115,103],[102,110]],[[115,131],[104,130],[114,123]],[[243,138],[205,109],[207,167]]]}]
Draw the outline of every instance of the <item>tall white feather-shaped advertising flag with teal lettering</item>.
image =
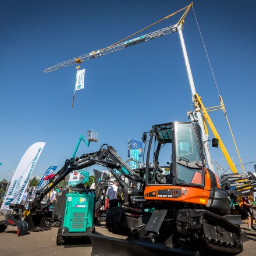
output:
[{"label": "tall white feather-shaped advertising flag with teal lettering", "polygon": [[5,194],[1,209],[9,209],[10,204],[20,204],[44,145],[45,142],[35,143],[23,155]]}]

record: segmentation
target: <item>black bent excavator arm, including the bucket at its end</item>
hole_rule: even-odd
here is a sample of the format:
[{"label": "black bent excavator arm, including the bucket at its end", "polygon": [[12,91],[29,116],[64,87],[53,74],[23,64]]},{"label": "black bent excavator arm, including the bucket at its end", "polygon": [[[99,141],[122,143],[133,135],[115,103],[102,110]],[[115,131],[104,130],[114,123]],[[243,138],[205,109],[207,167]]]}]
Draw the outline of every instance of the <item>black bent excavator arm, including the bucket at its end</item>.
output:
[{"label": "black bent excavator arm, including the bucket at its end", "polygon": [[[106,148],[103,148],[104,146],[106,146]],[[143,192],[142,187],[144,185],[144,179],[137,176],[136,173],[126,165],[125,161],[119,157],[116,150],[107,144],[103,144],[99,151],[83,154],[81,157],[67,159],[65,165],[49,180],[49,184],[35,194],[34,201],[30,203],[30,214],[25,218],[30,231],[48,229],[41,209],[41,200],[44,198],[44,195],[51,191],[53,187],[73,170],[84,169],[95,164],[106,166],[106,168],[111,171],[112,175],[115,176],[116,180],[118,180],[120,186],[126,191],[129,191],[129,186],[121,179],[122,175],[135,184],[140,183],[139,187],[141,187],[141,192]],[[116,170],[118,170],[118,172],[116,172]]]}]

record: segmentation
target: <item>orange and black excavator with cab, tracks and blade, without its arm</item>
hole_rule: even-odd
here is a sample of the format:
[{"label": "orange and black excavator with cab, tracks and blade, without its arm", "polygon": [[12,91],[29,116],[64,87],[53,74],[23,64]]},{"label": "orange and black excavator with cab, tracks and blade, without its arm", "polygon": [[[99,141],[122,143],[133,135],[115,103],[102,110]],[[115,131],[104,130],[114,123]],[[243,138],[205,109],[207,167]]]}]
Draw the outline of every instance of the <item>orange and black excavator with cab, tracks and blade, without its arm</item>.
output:
[{"label": "orange and black excavator with cab, tracks and blade, without its arm", "polygon": [[133,170],[141,180],[130,193],[131,207],[112,208],[106,215],[109,231],[124,234],[130,228],[130,233],[126,240],[91,234],[92,255],[241,253],[247,234],[230,218],[230,198],[207,168],[200,126],[163,123],[149,133],[148,141],[143,134],[145,166]]}]

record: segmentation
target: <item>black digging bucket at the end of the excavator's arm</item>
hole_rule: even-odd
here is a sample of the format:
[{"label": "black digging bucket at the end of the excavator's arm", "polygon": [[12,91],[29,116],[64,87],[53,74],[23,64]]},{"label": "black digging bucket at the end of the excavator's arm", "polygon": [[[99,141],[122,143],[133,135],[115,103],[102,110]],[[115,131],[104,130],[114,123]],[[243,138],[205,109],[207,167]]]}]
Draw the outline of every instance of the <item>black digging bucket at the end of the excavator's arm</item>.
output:
[{"label": "black digging bucket at the end of the excavator's arm", "polygon": [[41,231],[49,229],[49,226],[45,221],[44,214],[41,212],[27,215],[24,218],[24,221],[27,222],[29,231]]}]

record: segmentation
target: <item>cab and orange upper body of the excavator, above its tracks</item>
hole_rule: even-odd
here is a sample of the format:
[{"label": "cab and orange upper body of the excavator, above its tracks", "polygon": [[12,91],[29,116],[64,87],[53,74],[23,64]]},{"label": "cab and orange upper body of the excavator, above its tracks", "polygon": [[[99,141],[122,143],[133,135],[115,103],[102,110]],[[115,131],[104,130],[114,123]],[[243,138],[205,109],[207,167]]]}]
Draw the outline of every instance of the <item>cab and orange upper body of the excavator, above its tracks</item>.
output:
[{"label": "cab and orange upper body of the excavator, above its tracks", "polygon": [[150,135],[144,199],[158,209],[168,204],[174,215],[182,208],[229,214],[229,197],[205,163],[200,126],[192,122],[163,123],[152,126]]}]

